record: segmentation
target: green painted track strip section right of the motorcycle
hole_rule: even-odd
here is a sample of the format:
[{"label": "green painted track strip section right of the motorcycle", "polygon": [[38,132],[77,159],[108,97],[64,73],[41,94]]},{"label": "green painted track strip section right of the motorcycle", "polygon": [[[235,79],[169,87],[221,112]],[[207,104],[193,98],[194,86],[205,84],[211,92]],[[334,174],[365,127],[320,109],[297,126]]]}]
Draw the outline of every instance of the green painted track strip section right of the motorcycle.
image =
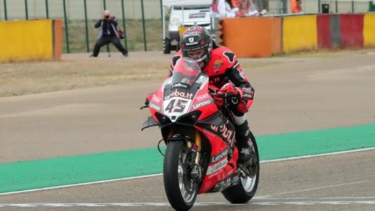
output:
[{"label": "green painted track strip section right of the motorcycle", "polygon": [[261,160],[375,147],[375,124],[257,138]]}]

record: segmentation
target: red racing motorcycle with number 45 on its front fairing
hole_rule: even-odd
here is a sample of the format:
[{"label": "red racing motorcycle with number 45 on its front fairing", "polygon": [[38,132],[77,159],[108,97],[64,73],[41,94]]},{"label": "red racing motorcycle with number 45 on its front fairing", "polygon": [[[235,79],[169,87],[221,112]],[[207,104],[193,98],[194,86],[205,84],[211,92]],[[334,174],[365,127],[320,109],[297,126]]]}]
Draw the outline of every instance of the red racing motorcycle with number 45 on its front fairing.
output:
[{"label": "red racing motorcycle with number 45 on its front fairing", "polygon": [[142,130],[158,126],[161,142],[167,146],[164,188],[175,210],[189,210],[197,194],[221,192],[230,203],[247,203],[256,193],[259,182],[256,140],[251,134],[256,152],[254,165],[249,168],[238,165],[232,115],[227,101],[220,99],[224,98],[209,86],[209,77],[198,64],[181,58],[173,75],[141,107],[151,112]]}]

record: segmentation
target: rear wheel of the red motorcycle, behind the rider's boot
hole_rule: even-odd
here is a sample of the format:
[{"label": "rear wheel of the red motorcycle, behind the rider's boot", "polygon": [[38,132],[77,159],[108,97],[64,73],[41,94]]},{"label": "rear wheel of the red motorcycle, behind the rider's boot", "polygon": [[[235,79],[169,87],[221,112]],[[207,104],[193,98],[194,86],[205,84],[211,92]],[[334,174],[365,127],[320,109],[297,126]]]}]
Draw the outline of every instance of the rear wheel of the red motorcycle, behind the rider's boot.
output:
[{"label": "rear wheel of the red motorcycle, behind the rider's boot", "polygon": [[[237,186],[232,186],[222,191],[224,198],[226,198],[230,203],[233,204],[243,204],[247,203],[251,198],[254,197],[256,189],[259,183],[259,153],[258,146],[254,135],[250,132],[251,140],[253,140],[254,149],[256,153],[256,174],[254,178],[249,176],[241,176],[239,184]],[[241,172],[242,173],[242,172]],[[243,173],[242,173],[243,174]]]}]

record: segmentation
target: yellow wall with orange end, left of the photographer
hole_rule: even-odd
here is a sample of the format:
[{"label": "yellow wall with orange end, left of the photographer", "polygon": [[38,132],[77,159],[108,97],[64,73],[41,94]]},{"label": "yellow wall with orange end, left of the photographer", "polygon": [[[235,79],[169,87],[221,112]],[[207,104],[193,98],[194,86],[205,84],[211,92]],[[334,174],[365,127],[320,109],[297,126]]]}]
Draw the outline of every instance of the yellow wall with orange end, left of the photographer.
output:
[{"label": "yellow wall with orange end, left of the photographer", "polygon": [[61,20],[0,22],[0,62],[61,59],[61,44]]}]

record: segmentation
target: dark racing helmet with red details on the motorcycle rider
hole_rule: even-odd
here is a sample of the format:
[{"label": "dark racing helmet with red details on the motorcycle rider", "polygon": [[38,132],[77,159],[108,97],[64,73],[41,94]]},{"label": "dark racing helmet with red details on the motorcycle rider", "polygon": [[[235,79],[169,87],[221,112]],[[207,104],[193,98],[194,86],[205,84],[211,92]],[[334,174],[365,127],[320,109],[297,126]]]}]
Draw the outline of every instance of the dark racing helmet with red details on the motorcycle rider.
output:
[{"label": "dark racing helmet with red details on the motorcycle rider", "polygon": [[188,51],[204,49],[205,52],[195,62],[199,64],[201,69],[204,69],[210,61],[212,51],[212,38],[207,28],[199,25],[191,26],[186,29],[180,38],[180,49],[183,52],[183,57],[189,57]]}]

